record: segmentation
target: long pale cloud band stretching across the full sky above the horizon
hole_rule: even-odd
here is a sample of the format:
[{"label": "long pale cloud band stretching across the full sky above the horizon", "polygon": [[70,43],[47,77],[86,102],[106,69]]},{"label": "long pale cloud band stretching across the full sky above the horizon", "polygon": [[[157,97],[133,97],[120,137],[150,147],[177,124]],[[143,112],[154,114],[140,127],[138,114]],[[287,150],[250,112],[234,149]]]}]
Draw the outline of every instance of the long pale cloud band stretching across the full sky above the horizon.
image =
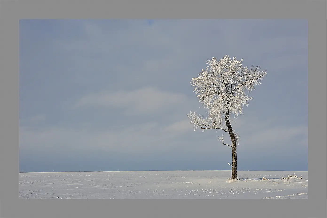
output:
[{"label": "long pale cloud band stretching across the full sky above the horizon", "polygon": [[[283,149],[307,146],[307,127],[281,126],[263,127],[258,124],[252,132],[242,127],[240,133],[241,150],[252,151],[257,148],[283,147]],[[254,131],[254,132],[253,132]],[[250,133],[249,133],[250,132]],[[93,131],[92,126],[64,126],[20,128],[20,150],[23,151],[104,151],[123,152],[138,155],[140,153],[160,153],[174,149],[192,151],[228,151],[227,146],[219,142],[217,136],[223,132],[194,132],[189,120],[179,120],[171,124],[145,122],[121,126],[116,129]],[[224,135],[225,143],[230,143],[228,134]],[[200,146],[199,146],[200,145]],[[300,147],[299,147],[300,146]]]}]

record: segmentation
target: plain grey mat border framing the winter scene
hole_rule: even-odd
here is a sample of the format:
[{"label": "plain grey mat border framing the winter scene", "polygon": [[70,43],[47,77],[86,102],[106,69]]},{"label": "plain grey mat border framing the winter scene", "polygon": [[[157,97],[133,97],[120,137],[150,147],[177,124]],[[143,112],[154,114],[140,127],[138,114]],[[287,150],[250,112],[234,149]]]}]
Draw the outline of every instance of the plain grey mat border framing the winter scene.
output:
[{"label": "plain grey mat border framing the winter scene", "polygon": [[[233,9],[232,13],[230,13]],[[18,20],[80,18],[308,19],[309,165],[306,200],[18,199]],[[326,217],[326,1],[2,0],[0,217]],[[323,121],[323,122],[322,122]],[[320,173],[322,171],[322,173]],[[69,202],[68,202],[69,201]],[[232,206],[235,206],[233,209]]]}]

